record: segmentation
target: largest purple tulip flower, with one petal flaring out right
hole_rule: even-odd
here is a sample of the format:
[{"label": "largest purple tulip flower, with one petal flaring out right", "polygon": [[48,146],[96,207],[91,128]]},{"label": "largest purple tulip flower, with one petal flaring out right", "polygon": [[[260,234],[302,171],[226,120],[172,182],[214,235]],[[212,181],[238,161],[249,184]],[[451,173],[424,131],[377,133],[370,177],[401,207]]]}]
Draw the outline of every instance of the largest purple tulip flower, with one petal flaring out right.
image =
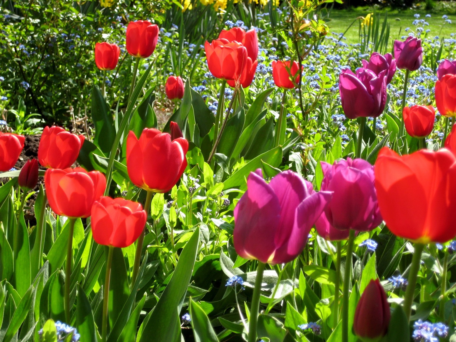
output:
[{"label": "largest purple tulip flower, with one petal flaring out right", "polygon": [[266,183],[261,170],[247,178],[247,191],[234,208],[234,248],[244,259],[283,264],[304,249],[309,232],[331,192],[313,192],[312,185],[292,171]]}]

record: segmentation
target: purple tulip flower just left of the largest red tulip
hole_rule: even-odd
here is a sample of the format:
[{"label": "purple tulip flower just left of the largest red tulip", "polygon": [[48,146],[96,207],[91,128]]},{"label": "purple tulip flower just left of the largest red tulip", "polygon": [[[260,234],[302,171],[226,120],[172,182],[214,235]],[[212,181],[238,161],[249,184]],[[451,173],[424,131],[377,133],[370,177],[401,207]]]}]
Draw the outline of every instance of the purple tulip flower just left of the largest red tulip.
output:
[{"label": "purple tulip flower just left of the largest red tulip", "polygon": [[328,223],[341,230],[370,231],[382,222],[374,187],[373,166],[347,158],[330,165],[321,162],[321,191],[333,192],[325,209]]}]

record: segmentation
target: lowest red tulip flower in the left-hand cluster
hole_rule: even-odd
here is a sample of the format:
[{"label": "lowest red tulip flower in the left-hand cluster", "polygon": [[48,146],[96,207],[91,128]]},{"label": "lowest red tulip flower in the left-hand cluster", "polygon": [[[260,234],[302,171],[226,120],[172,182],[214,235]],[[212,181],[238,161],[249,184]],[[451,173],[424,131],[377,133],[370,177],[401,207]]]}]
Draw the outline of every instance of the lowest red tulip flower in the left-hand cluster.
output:
[{"label": "lowest red tulip flower in the left-hand cluster", "polygon": [[146,212],[137,202],[101,197],[92,207],[93,239],[97,244],[128,247],[142,233],[146,219]]}]

